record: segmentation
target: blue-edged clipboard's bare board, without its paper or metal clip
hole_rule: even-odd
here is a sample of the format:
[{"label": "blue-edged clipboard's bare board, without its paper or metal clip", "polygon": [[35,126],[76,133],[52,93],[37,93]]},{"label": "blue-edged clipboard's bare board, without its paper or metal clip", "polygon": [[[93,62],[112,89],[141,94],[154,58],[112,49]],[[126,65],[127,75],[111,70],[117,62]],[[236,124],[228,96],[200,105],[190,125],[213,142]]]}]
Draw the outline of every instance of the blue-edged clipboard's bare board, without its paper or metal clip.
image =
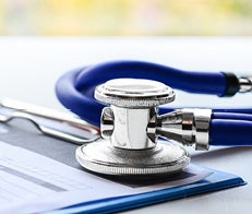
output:
[{"label": "blue-edged clipboard's bare board, without its paper or metal clip", "polygon": [[[76,160],[72,158],[74,156],[76,145],[45,136],[36,131],[36,129],[33,128],[33,124],[31,124],[28,121],[16,120],[11,124],[0,123],[0,131],[2,132],[0,134],[0,140],[4,142],[9,142],[12,145],[21,146],[39,153],[64,163],[71,167],[80,168]],[[55,152],[56,150],[58,151],[57,153]],[[242,185],[245,185],[245,182],[242,178],[236,175],[213,170],[211,176],[191,185],[127,197],[88,201],[46,213],[63,214],[119,212]]]}]

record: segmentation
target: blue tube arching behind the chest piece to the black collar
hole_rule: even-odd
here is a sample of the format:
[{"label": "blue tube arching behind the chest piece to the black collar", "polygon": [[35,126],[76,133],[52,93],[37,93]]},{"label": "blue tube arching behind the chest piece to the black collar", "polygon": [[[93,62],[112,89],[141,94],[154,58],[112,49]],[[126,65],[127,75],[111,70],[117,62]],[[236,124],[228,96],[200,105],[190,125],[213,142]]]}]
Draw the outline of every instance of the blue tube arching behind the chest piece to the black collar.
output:
[{"label": "blue tube arching behind the chest piece to the black collar", "polygon": [[223,72],[183,71],[143,61],[111,61],[80,70],[74,86],[86,91],[111,79],[131,78],[158,81],[189,93],[224,96],[230,82],[226,76]]}]

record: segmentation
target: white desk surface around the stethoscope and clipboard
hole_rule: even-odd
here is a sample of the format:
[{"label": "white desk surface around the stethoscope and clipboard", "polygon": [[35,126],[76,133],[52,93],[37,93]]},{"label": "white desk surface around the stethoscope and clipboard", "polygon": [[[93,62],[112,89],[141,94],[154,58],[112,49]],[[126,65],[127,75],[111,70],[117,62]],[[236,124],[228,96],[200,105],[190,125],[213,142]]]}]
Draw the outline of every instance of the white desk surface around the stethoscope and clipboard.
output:
[{"label": "white desk surface around the stethoscope and clipboard", "polygon": [[[252,37],[0,37],[0,99],[63,109],[55,96],[55,83],[63,72],[85,64],[134,59],[184,70],[248,74],[252,72],[251,56]],[[252,94],[219,100],[178,92],[177,97],[178,106],[252,106]],[[190,152],[193,163],[239,175],[248,185],[128,213],[251,213],[252,147]]]}]

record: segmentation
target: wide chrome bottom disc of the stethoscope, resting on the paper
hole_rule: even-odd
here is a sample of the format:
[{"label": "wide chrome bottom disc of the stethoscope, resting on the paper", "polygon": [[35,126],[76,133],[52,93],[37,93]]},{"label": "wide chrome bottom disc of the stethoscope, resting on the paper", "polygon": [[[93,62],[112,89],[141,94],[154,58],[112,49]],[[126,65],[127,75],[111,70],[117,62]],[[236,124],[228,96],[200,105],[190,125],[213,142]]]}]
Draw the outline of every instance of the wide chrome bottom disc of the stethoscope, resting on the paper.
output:
[{"label": "wide chrome bottom disc of the stethoscope, resting on the paper", "polygon": [[181,171],[190,162],[178,145],[158,142],[151,150],[122,150],[100,140],[80,146],[77,162],[86,169],[113,176],[169,175]]}]

